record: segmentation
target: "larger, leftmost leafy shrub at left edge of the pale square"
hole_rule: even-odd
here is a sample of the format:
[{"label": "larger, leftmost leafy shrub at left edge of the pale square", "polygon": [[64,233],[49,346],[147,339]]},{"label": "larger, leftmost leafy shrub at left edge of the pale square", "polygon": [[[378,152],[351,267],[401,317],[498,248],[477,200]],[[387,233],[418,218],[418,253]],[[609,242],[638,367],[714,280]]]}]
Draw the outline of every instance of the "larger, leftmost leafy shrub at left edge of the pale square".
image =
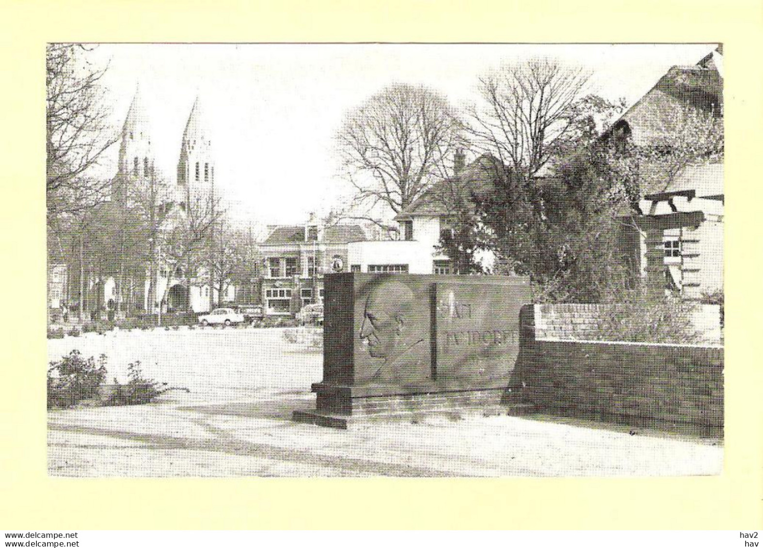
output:
[{"label": "larger, leftmost leafy shrub at left edge of the pale square", "polygon": [[98,397],[98,389],[106,378],[106,356],[98,364],[92,356],[87,360],[77,350],[51,361],[47,371],[47,406],[70,407],[82,399]]}]

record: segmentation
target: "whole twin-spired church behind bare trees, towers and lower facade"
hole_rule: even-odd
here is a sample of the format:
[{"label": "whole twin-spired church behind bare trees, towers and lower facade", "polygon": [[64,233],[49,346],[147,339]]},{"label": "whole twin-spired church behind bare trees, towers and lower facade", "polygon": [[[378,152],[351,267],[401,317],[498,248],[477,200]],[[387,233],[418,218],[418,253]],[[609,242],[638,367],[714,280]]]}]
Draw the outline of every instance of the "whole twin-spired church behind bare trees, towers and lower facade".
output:
[{"label": "whole twin-spired church behind bare trees, towers and lower facade", "polygon": [[[125,232],[143,230],[132,240],[143,248],[132,250],[132,255],[125,252],[117,261],[118,271],[111,268],[105,276],[91,277],[88,293],[97,302],[89,309],[116,310],[118,315],[159,309],[207,312],[217,303],[233,301],[233,287],[220,298],[211,288],[211,268],[198,252],[188,252],[214,241],[220,216],[214,149],[198,97],[182,133],[174,181],[157,167],[155,150],[138,90],[122,127],[118,172],[107,207],[115,224],[123,221]],[[138,256],[143,261],[137,261]]]}]

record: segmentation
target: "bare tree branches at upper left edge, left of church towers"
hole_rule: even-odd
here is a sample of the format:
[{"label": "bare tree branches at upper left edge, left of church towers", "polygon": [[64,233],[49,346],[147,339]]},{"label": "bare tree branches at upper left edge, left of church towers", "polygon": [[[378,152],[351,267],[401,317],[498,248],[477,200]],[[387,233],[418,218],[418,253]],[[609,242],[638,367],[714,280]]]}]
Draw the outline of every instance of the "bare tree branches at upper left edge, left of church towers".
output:
[{"label": "bare tree branches at upper left edge, left of church towers", "polygon": [[106,69],[85,59],[85,46],[51,43],[46,51],[47,211],[59,213],[103,200],[108,180],[92,168],[117,140],[107,123],[100,80]]}]

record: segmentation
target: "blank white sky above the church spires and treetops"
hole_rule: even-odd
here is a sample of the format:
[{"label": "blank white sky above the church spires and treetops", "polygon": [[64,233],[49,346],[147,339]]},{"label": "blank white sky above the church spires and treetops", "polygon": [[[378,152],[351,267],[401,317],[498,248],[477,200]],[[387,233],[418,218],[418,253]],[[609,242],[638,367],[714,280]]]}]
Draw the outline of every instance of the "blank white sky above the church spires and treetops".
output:
[{"label": "blank white sky above the church spires and treetops", "polygon": [[[349,195],[334,136],[343,115],[393,82],[423,84],[456,107],[478,102],[491,69],[549,57],[591,72],[591,91],[627,104],[674,65],[716,44],[100,44],[88,53],[114,128],[136,86],[153,129],[156,165],[175,178],[180,141],[198,96],[215,155],[215,184],[234,224],[304,223]],[[113,175],[118,145],[101,162]]]}]

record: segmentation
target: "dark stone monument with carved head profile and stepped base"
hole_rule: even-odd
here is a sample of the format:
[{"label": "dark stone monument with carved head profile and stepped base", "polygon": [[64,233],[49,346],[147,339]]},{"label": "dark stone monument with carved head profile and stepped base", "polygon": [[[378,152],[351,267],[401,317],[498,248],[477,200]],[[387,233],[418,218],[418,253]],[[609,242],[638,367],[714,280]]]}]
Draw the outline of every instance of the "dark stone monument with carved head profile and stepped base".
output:
[{"label": "dark stone monument with carved head profile and stepped base", "polygon": [[324,379],[295,421],[500,404],[520,349],[530,280],[507,276],[328,274]]}]

